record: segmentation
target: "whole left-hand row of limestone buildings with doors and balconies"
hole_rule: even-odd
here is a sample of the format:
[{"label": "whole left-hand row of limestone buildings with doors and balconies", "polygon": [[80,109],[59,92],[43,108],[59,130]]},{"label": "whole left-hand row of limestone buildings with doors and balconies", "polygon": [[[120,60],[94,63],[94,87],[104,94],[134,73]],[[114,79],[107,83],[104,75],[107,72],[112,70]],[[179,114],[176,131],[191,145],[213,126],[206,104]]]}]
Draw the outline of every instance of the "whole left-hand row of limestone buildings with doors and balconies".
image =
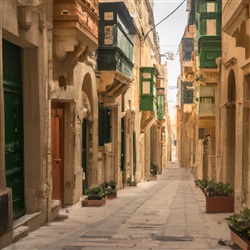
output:
[{"label": "whole left-hand row of limestone buildings with doors and balconies", "polygon": [[148,0],[0,0],[0,248],[91,185],[161,173],[170,122],[154,25]]}]

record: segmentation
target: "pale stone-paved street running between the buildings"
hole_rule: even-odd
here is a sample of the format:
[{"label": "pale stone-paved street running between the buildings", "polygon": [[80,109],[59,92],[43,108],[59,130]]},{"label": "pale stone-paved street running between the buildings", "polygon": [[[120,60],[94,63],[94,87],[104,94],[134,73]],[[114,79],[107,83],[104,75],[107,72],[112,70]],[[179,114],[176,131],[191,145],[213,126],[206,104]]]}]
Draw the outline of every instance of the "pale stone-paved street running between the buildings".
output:
[{"label": "pale stone-paved street running between the buildings", "polygon": [[156,181],[125,187],[103,207],[64,208],[57,220],[4,249],[239,249],[230,241],[230,214],[205,213],[193,180],[168,163]]}]

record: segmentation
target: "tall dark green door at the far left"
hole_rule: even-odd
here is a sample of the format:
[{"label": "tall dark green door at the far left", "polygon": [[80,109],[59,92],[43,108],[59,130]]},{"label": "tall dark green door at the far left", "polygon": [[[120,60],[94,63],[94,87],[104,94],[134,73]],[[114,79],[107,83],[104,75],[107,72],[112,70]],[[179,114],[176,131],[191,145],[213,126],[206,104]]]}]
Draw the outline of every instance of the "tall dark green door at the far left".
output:
[{"label": "tall dark green door at the far left", "polygon": [[3,40],[6,184],[12,189],[13,218],[25,213],[21,49]]}]

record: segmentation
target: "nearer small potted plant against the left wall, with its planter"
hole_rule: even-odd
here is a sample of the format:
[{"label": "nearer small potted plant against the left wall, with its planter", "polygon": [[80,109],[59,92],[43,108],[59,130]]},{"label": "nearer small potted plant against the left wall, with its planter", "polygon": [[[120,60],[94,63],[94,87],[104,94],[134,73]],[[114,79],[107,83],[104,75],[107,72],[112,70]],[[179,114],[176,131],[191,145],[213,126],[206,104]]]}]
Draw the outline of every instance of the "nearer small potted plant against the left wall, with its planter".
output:
[{"label": "nearer small potted plant against the left wall, with its planter", "polygon": [[106,203],[105,192],[101,186],[93,185],[85,190],[85,194],[88,195],[82,202],[82,206],[103,206]]}]

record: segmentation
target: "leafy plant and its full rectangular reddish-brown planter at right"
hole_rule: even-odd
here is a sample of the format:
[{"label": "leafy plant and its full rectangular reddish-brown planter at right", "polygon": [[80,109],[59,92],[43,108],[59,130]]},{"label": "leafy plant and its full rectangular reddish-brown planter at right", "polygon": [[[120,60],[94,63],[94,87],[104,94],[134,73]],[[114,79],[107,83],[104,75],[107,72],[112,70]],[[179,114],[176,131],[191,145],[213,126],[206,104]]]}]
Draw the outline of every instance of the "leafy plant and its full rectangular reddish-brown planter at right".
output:
[{"label": "leafy plant and its full rectangular reddish-brown planter at right", "polygon": [[206,196],[207,213],[231,213],[234,211],[234,191],[229,183],[196,180]]}]

